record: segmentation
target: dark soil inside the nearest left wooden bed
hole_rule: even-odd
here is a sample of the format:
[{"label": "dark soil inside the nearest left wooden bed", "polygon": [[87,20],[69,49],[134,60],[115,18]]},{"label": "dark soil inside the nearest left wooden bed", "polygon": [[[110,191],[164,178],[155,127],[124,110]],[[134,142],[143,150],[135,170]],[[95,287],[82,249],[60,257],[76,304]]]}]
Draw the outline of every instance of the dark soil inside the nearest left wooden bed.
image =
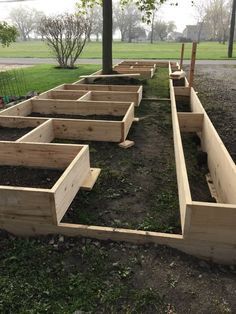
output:
[{"label": "dark soil inside the nearest left wooden bed", "polygon": [[0,166],[0,185],[50,189],[63,170]]}]

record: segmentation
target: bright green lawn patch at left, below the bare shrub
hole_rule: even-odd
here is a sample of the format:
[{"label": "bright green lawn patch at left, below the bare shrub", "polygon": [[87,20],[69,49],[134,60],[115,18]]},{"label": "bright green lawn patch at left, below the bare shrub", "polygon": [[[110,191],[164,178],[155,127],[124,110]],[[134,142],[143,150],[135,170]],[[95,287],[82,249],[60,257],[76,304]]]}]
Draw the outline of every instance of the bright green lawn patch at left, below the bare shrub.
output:
[{"label": "bright green lawn patch at left, below the bare shrub", "polygon": [[[91,74],[99,68],[100,66],[96,64],[81,65],[74,70],[57,69],[53,65],[32,66],[23,70],[8,71],[11,79],[1,88],[4,95],[11,95],[12,90],[15,91],[16,96],[25,95],[29,91],[41,93],[63,83],[75,82],[79,80],[80,75]],[[0,82],[3,75],[6,74],[0,72]],[[12,84],[16,77],[20,78],[18,87],[17,84]]]}]

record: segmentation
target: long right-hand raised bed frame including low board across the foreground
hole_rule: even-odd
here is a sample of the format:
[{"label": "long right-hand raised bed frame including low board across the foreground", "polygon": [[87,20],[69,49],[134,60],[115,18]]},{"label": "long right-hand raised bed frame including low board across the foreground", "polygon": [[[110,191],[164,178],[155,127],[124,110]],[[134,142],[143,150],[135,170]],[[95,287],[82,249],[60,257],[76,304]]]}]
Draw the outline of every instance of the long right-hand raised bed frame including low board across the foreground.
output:
[{"label": "long right-hand raised bed frame including low board across the foreground", "polygon": [[[159,63],[160,64],[160,63]],[[163,62],[170,73],[178,64]],[[38,224],[11,219],[0,221],[1,227],[15,234],[60,233],[103,240],[156,243],[168,245],[210,261],[236,263],[236,166],[205,112],[197,93],[184,86],[174,87],[170,79],[173,137],[176,158],[182,234],[166,234],[122,228],[58,223]],[[176,97],[188,97],[191,113],[178,113]],[[197,132],[202,149],[208,154],[208,167],[219,203],[192,201],[185,164],[181,131]]]}]

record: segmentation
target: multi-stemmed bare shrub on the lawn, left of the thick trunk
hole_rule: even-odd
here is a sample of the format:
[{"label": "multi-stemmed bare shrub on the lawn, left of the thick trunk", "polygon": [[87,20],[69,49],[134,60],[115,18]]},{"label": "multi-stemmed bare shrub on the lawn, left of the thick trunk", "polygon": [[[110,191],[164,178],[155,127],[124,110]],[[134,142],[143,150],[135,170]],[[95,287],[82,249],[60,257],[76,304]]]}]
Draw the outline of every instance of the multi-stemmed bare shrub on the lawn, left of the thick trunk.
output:
[{"label": "multi-stemmed bare shrub on the lawn, left of the thick trunk", "polygon": [[40,32],[61,68],[74,68],[87,40],[88,24],[79,15],[64,14],[41,20]]}]

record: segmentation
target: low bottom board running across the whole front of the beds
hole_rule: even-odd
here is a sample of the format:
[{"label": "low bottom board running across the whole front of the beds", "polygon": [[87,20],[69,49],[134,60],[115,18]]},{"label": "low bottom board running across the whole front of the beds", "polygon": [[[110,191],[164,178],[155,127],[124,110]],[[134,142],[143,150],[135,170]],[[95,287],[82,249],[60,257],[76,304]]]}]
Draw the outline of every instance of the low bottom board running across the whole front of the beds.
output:
[{"label": "low bottom board running across the whole front of the beds", "polygon": [[[21,223],[19,223],[21,222]],[[187,254],[221,264],[236,263],[235,245],[196,239],[186,239],[182,235],[130,230],[122,228],[88,226],[79,224],[59,223],[56,225],[12,222],[5,220],[0,223],[2,229],[18,235],[62,234],[71,237],[89,237],[98,240],[131,242],[136,244],[155,243],[168,245]]]}]

